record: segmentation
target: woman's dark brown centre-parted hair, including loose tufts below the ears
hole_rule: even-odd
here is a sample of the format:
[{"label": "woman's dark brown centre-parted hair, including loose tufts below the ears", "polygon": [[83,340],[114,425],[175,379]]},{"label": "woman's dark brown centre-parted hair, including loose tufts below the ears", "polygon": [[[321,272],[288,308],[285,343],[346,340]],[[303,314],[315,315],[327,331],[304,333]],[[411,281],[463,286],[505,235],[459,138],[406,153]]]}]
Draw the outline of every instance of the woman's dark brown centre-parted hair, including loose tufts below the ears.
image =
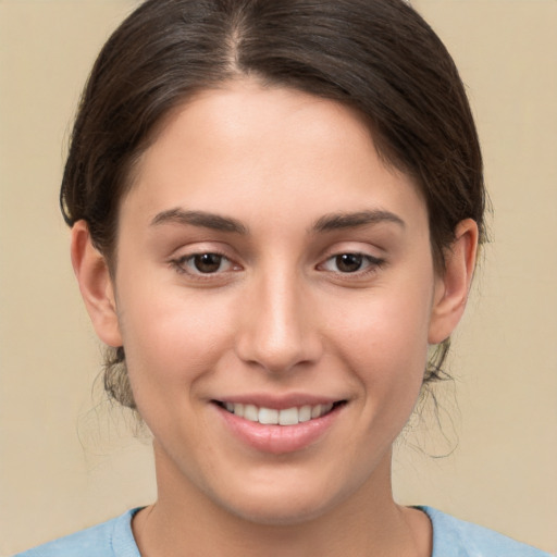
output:
[{"label": "woman's dark brown centre-parted hair, including loose tufts below the ears", "polygon": [[[69,225],[84,219],[114,261],[117,210],[157,125],[195,92],[253,76],[334,99],[369,122],[380,156],[425,199],[442,272],[455,227],[484,239],[482,157],[465,88],[431,27],[404,0],[147,0],[114,32],[83,94],[60,194]],[[441,379],[448,339],[424,384]],[[124,349],[104,386],[135,407]]]}]

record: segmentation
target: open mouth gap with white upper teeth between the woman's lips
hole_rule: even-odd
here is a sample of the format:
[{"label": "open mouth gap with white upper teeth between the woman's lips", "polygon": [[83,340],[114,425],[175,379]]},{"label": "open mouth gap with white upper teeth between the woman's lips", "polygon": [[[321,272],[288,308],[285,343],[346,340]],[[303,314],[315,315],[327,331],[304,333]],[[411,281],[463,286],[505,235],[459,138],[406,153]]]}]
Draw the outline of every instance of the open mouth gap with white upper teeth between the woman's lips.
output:
[{"label": "open mouth gap with white upper teeth between the woman's lips", "polygon": [[275,408],[265,408],[262,406],[238,404],[238,403],[214,403],[224,408],[230,413],[244,418],[250,422],[257,422],[264,425],[297,425],[298,423],[309,422],[322,418],[336,408],[346,404],[346,400],[330,403],[323,405],[306,405],[300,407],[284,408],[277,410]]}]

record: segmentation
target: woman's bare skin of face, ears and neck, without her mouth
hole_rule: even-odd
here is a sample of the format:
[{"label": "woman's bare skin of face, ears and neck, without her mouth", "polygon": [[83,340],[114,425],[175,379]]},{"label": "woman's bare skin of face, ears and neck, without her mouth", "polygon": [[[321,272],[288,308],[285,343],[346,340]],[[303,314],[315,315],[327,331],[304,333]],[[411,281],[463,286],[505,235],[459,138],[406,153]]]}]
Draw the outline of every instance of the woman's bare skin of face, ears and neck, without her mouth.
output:
[{"label": "woman's bare skin of face, ears and neck, without her mouth", "polygon": [[[417,186],[338,103],[239,81],[171,114],[122,201],[113,278],[84,222],[72,237],[96,331],[124,346],[153,434],[141,554],[431,555],[426,516],[393,500],[392,445],[428,346],[462,314],[476,242],[461,222],[436,274]],[[222,256],[212,272],[202,253]],[[274,454],[214,404],[255,394],[345,404],[308,446]]]}]

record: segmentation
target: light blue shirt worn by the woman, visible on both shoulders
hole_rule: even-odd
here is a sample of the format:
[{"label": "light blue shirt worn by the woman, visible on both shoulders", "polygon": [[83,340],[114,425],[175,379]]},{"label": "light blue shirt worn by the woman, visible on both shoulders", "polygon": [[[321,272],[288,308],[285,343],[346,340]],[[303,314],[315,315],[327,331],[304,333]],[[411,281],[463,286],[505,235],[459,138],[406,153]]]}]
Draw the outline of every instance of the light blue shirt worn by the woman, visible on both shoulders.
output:
[{"label": "light blue shirt worn by the woman, visible on both shoulders", "polygon": [[[419,508],[428,513],[433,524],[432,557],[550,557],[493,530],[431,507]],[[140,557],[132,533],[132,518],[137,510],[15,557]]]}]

